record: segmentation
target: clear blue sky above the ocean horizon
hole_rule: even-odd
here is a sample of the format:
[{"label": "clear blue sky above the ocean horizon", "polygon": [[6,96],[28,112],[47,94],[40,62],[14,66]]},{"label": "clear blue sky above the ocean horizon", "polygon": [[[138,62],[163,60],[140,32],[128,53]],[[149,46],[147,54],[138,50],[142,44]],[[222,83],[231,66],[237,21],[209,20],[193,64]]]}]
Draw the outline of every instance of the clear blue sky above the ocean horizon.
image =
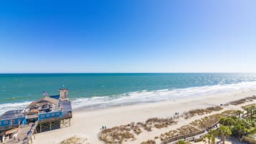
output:
[{"label": "clear blue sky above the ocean horizon", "polygon": [[256,1],[0,2],[0,72],[256,72]]}]

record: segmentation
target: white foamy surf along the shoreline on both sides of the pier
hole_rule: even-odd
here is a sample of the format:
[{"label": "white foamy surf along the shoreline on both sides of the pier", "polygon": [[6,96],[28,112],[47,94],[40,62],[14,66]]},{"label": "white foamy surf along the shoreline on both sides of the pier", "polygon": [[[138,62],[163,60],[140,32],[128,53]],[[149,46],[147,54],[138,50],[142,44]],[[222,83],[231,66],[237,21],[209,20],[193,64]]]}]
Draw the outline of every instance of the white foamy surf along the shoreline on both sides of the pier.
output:
[{"label": "white foamy surf along the shoreline on both sides of the pier", "polygon": [[[138,92],[127,92],[120,95],[105,97],[81,97],[72,100],[74,109],[98,109],[113,107],[118,105],[131,105],[136,103],[159,102],[164,100],[175,100],[183,97],[200,97],[202,95],[212,95],[222,92],[235,92],[237,90],[251,91],[256,90],[256,82],[240,82],[230,85],[212,85],[203,87],[189,87],[174,90],[141,90]],[[23,109],[30,102],[5,103],[0,105],[0,114],[7,110]]]}]

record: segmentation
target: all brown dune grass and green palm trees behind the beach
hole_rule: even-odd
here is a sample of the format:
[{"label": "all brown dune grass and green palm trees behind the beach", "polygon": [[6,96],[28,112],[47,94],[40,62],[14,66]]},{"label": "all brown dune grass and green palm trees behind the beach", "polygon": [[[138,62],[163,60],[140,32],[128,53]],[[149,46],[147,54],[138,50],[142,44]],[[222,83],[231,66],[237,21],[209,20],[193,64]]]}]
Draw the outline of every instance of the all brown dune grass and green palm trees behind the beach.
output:
[{"label": "all brown dune grass and green palm trees behind the beach", "polygon": [[[230,102],[230,105],[240,105],[242,103],[256,100],[256,97],[246,97],[245,99]],[[169,132],[162,133],[160,136],[156,136],[154,140],[147,140],[141,144],[154,144],[156,139],[160,139],[162,142],[170,140],[172,138],[180,138],[191,133],[200,133],[202,130],[210,130],[212,126],[219,123],[220,127],[217,130],[210,130],[210,132],[202,138],[205,143],[213,144],[215,143],[214,136],[219,136],[224,139],[229,135],[233,135],[237,138],[242,138],[242,135],[249,135],[256,133],[256,105],[247,105],[242,107],[247,111],[247,117],[244,117],[243,110],[225,110],[222,113],[209,115],[203,117],[200,120],[194,120],[189,123],[189,125],[184,125],[176,130],[170,130]],[[190,110],[189,112],[184,112],[183,115],[185,119],[194,117],[196,115],[205,115],[214,111],[222,110],[222,107],[207,107],[206,109],[196,109]],[[239,117],[237,117],[239,116]],[[123,143],[127,140],[136,140],[135,135],[140,135],[144,130],[151,131],[153,128],[161,129],[167,128],[169,125],[174,125],[177,123],[176,118],[178,117],[166,117],[157,118],[153,117],[145,122],[139,123],[129,123],[128,125],[120,125],[114,128],[108,128],[102,130],[98,138],[104,143]],[[215,125],[216,126],[216,125]],[[180,142],[181,143],[181,142]]]}]

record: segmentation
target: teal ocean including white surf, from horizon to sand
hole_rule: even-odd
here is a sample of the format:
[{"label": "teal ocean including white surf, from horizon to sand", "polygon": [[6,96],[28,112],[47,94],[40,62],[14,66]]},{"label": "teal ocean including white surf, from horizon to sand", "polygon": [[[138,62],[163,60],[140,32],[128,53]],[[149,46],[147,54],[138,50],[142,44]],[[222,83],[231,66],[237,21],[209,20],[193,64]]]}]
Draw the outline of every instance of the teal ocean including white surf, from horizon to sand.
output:
[{"label": "teal ocean including white surf, from horizon to sand", "polygon": [[26,107],[44,91],[57,95],[62,87],[73,108],[95,109],[255,86],[255,74],[234,73],[0,74],[0,114]]}]

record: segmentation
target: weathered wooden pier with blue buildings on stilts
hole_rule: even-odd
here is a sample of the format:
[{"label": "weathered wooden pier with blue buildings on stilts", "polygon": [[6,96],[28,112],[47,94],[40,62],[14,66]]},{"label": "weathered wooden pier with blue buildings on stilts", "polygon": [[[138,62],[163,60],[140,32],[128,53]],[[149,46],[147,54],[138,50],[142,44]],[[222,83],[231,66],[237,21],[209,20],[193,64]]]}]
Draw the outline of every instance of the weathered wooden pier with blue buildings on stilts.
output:
[{"label": "weathered wooden pier with blue buildings on stilts", "polygon": [[45,95],[24,110],[5,112],[0,116],[0,143],[32,143],[35,133],[69,127],[72,107],[67,94],[67,89],[59,89],[59,95]]}]

